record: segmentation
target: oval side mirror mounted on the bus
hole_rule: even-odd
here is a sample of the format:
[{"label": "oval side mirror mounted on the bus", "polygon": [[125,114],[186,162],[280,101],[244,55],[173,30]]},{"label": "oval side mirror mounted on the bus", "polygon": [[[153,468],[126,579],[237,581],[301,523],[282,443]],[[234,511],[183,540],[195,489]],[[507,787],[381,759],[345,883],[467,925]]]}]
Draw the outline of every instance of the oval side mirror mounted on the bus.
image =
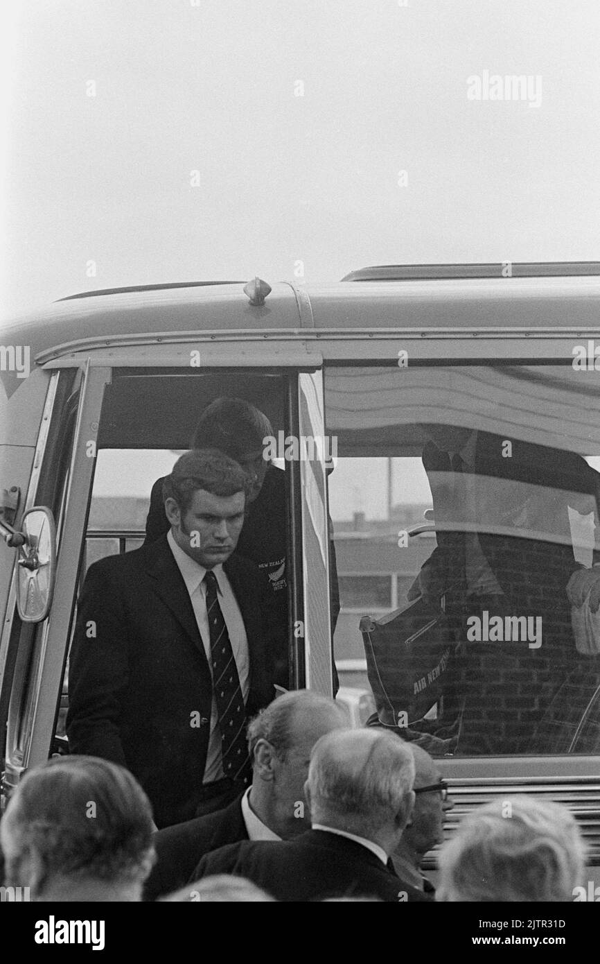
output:
[{"label": "oval side mirror mounted on the bus", "polygon": [[[45,506],[29,509],[21,520],[24,542],[18,547],[16,607],[24,623],[48,615],[56,576],[56,528]],[[20,541],[20,540],[19,540]]]}]

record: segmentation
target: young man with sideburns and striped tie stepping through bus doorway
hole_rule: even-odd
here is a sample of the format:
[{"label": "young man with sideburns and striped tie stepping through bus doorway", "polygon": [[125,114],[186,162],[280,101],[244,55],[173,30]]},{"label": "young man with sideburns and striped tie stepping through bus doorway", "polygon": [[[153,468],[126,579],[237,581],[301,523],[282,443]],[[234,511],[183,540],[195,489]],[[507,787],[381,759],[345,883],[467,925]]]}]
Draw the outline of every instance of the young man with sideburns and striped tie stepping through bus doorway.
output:
[{"label": "young man with sideburns and striped tie stepping through bus doorway", "polygon": [[79,598],[69,748],[127,766],[159,827],[244,789],[245,724],[274,697],[264,580],[233,554],[247,484],[220,452],[181,456],[165,486],[169,534],[92,565]]}]

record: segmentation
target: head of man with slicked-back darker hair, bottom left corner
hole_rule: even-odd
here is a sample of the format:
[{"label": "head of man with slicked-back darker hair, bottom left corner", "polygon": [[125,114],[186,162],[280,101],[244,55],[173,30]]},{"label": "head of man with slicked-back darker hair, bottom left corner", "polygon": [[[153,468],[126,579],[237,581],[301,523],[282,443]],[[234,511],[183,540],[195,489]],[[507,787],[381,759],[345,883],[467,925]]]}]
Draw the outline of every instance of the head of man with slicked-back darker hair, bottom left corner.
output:
[{"label": "head of man with slicked-back darker hair, bottom left corner", "polygon": [[58,757],[25,774],[0,823],[6,884],[34,901],[139,901],[152,811],[123,766]]}]

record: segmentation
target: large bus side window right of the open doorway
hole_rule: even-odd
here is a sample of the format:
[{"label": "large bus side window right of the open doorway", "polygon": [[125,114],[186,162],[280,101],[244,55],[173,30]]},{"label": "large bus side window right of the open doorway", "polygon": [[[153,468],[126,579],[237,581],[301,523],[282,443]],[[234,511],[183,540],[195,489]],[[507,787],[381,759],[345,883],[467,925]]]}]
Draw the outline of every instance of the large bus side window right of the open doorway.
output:
[{"label": "large bus side window right of the open doorway", "polygon": [[340,682],[433,755],[600,752],[590,375],[326,371]]}]

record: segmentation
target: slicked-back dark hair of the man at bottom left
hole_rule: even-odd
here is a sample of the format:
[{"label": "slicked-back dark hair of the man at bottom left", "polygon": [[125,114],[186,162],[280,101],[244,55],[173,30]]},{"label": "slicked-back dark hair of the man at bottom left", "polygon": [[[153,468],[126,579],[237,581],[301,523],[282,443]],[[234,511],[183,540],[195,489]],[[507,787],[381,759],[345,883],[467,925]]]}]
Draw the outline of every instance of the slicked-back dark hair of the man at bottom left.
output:
[{"label": "slicked-back dark hair of the man at bottom left", "polygon": [[53,758],[23,777],[8,809],[19,859],[35,854],[41,865],[39,892],[57,874],[143,882],[154,863],[152,808],[133,775],[117,763]]}]

